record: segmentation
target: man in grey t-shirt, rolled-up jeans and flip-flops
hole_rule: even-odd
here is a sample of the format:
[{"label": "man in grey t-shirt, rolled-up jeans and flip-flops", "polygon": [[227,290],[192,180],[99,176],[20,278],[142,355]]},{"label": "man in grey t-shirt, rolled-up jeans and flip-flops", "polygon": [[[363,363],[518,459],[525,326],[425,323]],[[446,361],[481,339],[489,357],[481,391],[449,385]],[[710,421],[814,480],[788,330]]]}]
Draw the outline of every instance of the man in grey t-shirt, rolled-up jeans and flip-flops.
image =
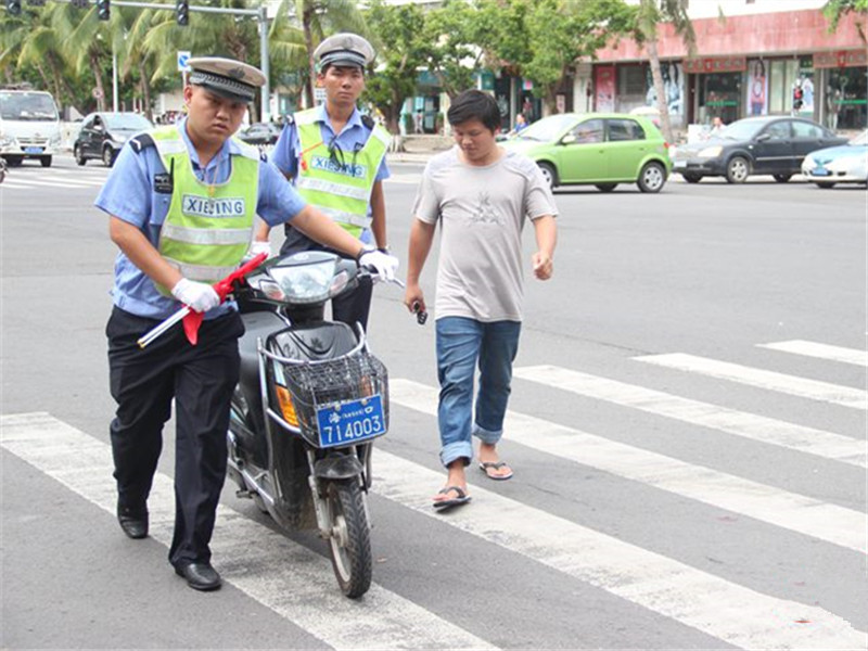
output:
[{"label": "man in grey t-shirt, rolled-up jeans and flip-flops", "polygon": [[[508,480],[497,443],[503,433],[512,361],[522,320],[522,247],[525,218],[536,233],[534,275],[552,275],[557,207],[531,159],[497,145],[500,111],[478,90],[459,94],[447,113],[457,146],[427,164],[416,199],[408,255],[405,304],[425,310],[419,277],[437,222],[436,335],[441,398],[437,421],[446,486],[435,509],[467,503],[464,467],[473,458],[471,434],[480,438],[480,469],[492,480]],[[473,372],[480,388],[473,416]],[[471,421],[473,421],[471,423]]]}]

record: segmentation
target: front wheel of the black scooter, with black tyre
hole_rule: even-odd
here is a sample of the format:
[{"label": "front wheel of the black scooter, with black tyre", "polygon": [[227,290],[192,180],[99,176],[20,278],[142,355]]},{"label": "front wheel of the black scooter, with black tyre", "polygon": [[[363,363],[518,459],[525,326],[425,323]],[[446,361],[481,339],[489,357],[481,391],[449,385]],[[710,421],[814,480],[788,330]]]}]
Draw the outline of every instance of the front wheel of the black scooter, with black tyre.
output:
[{"label": "front wheel of the black scooter, with black tyre", "polygon": [[371,587],[373,561],[368,510],[357,478],[331,482],[328,489],[332,523],[329,547],[341,591],[358,599]]}]

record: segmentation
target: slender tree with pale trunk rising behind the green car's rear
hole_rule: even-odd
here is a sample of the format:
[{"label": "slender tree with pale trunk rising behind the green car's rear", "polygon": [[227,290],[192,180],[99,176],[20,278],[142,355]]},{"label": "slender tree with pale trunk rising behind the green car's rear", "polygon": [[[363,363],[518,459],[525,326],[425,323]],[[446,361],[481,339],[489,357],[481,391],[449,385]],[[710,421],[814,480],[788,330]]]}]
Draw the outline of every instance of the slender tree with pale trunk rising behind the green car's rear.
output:
[{"label": "slender tree with pale trunk rising behind the green car's rear", "polygon": [[651,65],[651,77],[654,91],[658,95],[658,110],[663,127],[663,136],[673,142],[672,122],[666,105],[666,91],[663,87],[663,74],[660,69],[660,54],[658,53],[658,25],[672,23],[675,33],[681,37],[687,48],[688,55],[692,56],[697,49],[697,35],[693,24],[687,15],[688,0],[640,0],[637,25],[634,38],[644,44],[648,61]]}]

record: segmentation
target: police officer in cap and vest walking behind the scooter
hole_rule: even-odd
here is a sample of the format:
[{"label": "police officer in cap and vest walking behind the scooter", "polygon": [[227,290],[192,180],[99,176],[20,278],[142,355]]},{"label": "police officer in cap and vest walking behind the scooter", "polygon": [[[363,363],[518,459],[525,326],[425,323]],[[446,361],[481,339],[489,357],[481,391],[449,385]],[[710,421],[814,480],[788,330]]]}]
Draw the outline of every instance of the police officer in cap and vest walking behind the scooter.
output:
[{"label": "police officer in cap and vest walking behind the scooter", "polygon": [[[319,207],[354,238],[384,253],[386,210],[383,179],[390,133],[356,106],[365,90],[365,71],[374,59],[366,39],[356,34],[335,34],[315,50],[317,81],[326,90],[326,103],[295,113],[275,148],[273,163],[291,179],[298,193]],[[257,240],[268,241],[263,227]],[[281,253],[322,248],[303,232],[286,225]],[[332,302],[332,317],[367,328],[371,283]]]}]

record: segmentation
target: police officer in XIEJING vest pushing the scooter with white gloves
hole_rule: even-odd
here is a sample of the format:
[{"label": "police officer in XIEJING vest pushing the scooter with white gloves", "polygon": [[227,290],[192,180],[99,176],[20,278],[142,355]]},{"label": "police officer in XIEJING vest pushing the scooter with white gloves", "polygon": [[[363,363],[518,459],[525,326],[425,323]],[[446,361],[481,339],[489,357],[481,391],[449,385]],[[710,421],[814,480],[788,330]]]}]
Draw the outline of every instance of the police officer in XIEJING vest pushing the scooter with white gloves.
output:
[{"label": "police officer in XIEJING vest pushing the scooter with white gloves", "polygon": [[[212,283],[242,260],[254,217],[292,224],[311,239],[384,272],[397,260],[361,243],[305,202],[256,149],[231,138],[265,82],[255,67],[191,59],[187,117],[140,133],[120,151],[95,205],[110,215],[120,252],[106,327],[117,518],[130,538],[148,536],[148,496],[175,400],[175,536],[169,562],[190,587],[220,577],[209,541],[226,473],[229,403],[239,376],[243,326]],[[362,255],[363,254],[363,255]],[[204,312],[199,343],[180,324],[141,349],[137,340],[181,305]]]}]

